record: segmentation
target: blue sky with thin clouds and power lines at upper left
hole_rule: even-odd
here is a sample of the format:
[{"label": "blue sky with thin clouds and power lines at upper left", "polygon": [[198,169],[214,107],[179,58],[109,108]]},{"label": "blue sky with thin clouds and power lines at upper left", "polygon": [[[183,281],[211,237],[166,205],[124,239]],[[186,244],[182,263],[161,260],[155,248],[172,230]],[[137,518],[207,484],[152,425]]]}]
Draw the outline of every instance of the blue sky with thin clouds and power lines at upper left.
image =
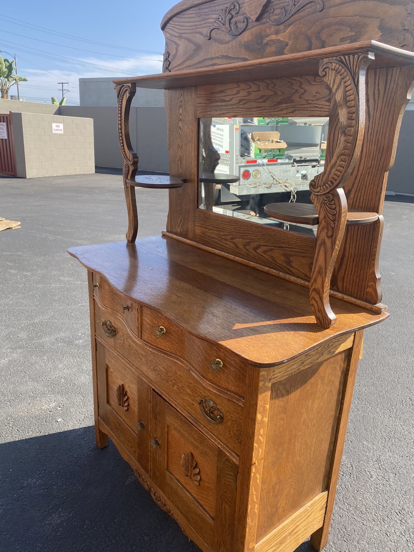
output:
[{"label": "blue sky with thin clouds and power lines at upper left", "polygon": [[[163,15],[177,2],[21,0],[13,9],[12,4],[8,3],[7,9],[3,4],[4,7],[0,7],[0,50],[16,54],[19,75],[29,79],[20,85],[20,95],[28,100],[36,98],[50,102],[52,95],[61,97],[57,82],[63,81],[70,82],[67,101],[78,103],[80,77],[115,78],[161,72],[164,38],[160,23]],[[62,56],[71,59],[63,60]],[[10,94],[15,93],[12,87]]]}]

